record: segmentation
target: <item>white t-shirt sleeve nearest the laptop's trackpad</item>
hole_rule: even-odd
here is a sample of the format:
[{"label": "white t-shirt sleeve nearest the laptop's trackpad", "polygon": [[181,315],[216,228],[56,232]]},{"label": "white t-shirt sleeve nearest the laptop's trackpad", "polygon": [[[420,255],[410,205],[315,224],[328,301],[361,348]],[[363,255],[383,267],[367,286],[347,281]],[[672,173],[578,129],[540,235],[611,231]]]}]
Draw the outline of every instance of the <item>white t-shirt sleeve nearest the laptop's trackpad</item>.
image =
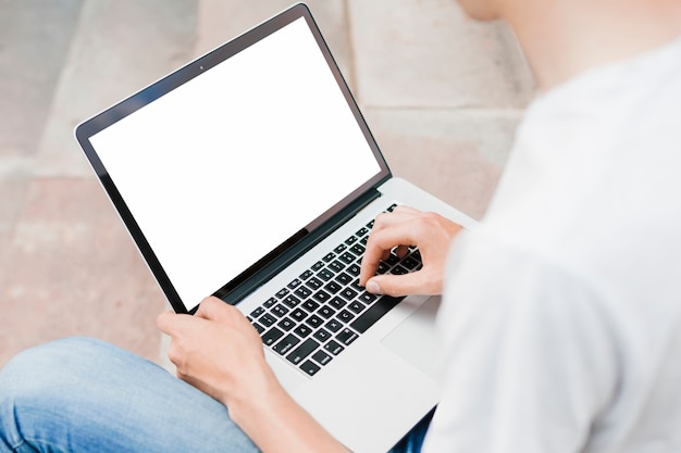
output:
[{"label": "white t-shirt sleeve nearest the laptop's trackpad", "polygon": [[574,453],[616,391],[614,341],[579,273],[483,234],[453,250],[444,394],[426,453]]}]

